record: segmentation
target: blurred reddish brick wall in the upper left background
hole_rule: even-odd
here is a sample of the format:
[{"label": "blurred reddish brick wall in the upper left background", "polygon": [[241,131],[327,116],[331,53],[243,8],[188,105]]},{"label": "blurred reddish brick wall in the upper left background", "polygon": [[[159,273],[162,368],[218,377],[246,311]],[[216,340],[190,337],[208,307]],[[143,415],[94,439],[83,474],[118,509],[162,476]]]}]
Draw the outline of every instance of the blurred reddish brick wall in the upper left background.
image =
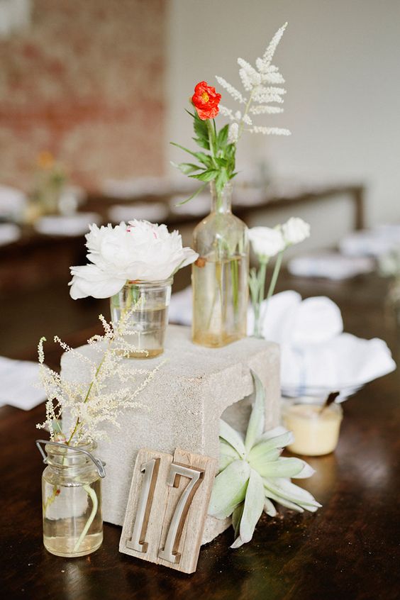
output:
[{"label": "blurred reddish brick wall in the upper left background", "polygon": [[33,0],[0,40],[0,184],[29,189],[50,150],[91,190],[160,174],[166,0]]}]

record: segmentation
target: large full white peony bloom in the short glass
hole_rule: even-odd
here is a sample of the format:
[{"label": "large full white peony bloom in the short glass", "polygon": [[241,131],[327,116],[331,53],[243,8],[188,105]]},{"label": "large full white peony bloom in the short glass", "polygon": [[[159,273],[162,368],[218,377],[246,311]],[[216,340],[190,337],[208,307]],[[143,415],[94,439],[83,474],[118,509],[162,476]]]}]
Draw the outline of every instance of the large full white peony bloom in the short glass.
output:
[{"label": "large full white peony bloom in the short glass", "polygon": [[129,221],[116,227],[90,226],[86,235],[91,264],[71,267],[70,294],[74,300],[109,298],[127,281],[155,282],[171,277],[199,256],[182,248],[177,231],[148,221]]}]

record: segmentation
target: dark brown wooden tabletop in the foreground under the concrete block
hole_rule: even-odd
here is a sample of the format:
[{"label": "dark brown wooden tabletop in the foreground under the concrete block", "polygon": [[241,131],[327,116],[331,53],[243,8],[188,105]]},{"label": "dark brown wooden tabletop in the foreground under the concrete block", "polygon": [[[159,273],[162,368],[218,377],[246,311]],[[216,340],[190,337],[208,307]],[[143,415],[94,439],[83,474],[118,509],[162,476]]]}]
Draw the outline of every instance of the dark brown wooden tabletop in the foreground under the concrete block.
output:
[{"label": "dark brown wooden tabletop in the foreground under the concrete block", "polygon": [[[395,328],[384,320],[386,282],[291,279],[280,287],[304,296],[328,294],[351,333],[385,338],[400,357]],[[85,333],[72,336],[82,342]],[[32,352],[27,352],[26,356]],[[57,354],[48,355],[52,363]],[[0,409],[2,598],[29,600],[218,599],[394,600],[400,598],[399,372],[377,379],[344,405],[335,454],[313,458],[302,480],[321,501],[314,514],[280,510],[263,516],[251,543],[230,550],[228,530],[201,550],[197,572],[179,574],[118,552],[121,528],[106,524],[93,555],[57,558],[42,544],[40,474],[30,412]]]}]

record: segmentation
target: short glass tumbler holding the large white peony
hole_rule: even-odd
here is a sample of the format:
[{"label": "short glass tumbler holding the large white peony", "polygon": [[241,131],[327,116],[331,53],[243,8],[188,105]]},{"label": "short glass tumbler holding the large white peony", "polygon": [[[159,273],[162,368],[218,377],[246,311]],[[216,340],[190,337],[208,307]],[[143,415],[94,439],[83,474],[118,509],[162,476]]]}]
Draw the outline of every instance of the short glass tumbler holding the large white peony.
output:
[{"label": "short glass tumbler holding the large white peony", "polygon": [[164,352],[172,277],[160,282],[128,282],[111,297],[111,321],[123,323],[130,358],[153,358]]}]

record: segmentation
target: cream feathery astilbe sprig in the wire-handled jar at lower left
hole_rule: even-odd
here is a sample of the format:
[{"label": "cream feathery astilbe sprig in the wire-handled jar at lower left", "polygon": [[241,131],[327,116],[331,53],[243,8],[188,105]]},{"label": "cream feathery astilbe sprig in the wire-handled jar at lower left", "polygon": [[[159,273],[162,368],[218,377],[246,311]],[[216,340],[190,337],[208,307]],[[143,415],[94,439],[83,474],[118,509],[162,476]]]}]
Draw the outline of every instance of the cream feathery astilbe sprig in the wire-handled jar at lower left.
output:
[{"label": "cream feathery astilbe sprig in the wire-handled jar at lower left", "polygon": [[[95,335],[88,340],[96,351],[93,360],[84,352],[73,350],[55,336],[55,342],[65,352],[72,352],[77,360],[83,360],[89,367],[89,384],[68,381],[59,373],[45,365],[45,354],[41,338],[38,345],[40,363],[40,382],[48,398],[46,416],[37,428],[47,428],[50,440],[64,441],[70,445],[79,445],[92,440],[107,438],[109,424],[121,428],[119,416],[126,409],[147,409],[138,400],[141,392],[154,379],[157,371],[165,364],[160,362],[152,370],[132,369],[131,363],[123,360],[132,352],[138,352],[126,338],[131,313],[127,311],[116,323],[109,323],[100,315],[104,334]],[[62,422],[63,413],[69,415],[69,426]]]}]

